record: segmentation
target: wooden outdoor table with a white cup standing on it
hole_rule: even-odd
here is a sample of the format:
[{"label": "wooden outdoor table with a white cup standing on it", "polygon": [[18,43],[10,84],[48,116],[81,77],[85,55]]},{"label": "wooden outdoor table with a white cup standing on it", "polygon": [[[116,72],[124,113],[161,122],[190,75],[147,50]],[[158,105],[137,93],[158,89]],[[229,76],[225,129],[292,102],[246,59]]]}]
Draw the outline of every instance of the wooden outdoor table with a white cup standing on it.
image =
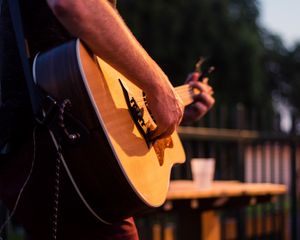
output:
[{"label": "wooden outdoor table with a white cup standing on it", "polygon": [[214,210],[272,202],[286,192],[285,185],[270,183],[215,181],[210,188],[199,189],[192,181],[171,181],[161,210],[178,213],[179,240],[219,240],[220,219]]}]

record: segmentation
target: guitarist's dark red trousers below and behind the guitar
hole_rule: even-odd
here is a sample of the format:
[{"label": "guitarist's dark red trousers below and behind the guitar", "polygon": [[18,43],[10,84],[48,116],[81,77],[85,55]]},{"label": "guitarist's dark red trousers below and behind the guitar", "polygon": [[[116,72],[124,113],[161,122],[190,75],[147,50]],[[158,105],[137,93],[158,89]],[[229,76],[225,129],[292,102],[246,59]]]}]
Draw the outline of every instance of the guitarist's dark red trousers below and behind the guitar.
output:
[{"label": "guitarist's dark red trousers below and behind the guitar", "polygon": [[[35,144],[33,136],[28,136],[25,144],[7,156],[9,161],[5,168],[0,165],[0,197],[10,209],[13,208],[30,171],[34,145],[36,156],[32,175],[15,217],[25,227],[28,240],[51,240],[57,155],[45,129],[38,129]],[[62,166],[61,168],[57,239],[138,240],[132,218],[105,225],[92,216],[81,202]]]}]

